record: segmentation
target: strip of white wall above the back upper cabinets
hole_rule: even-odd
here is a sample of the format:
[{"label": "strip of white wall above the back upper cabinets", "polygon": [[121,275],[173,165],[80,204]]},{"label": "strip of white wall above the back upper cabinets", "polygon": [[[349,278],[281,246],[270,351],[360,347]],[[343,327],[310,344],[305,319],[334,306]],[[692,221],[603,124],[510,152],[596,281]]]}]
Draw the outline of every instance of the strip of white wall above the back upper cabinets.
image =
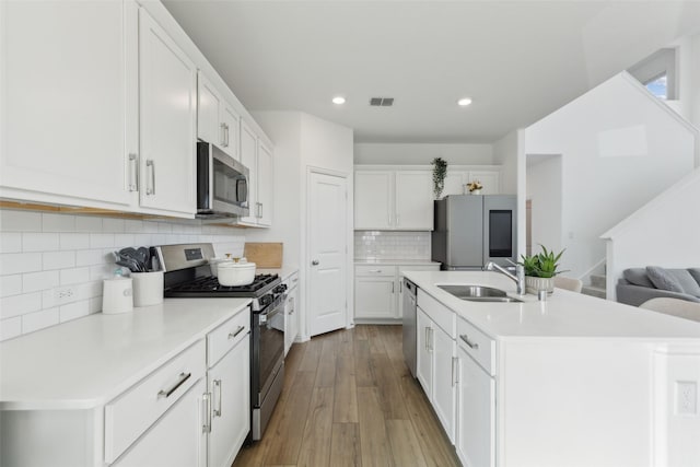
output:
[{"label": "strip of white wall above the back upper cabinets", "polygon": [[442,157],[453,165],[493,164],[491,144],[357,143],[355,164],[428,165]]}]

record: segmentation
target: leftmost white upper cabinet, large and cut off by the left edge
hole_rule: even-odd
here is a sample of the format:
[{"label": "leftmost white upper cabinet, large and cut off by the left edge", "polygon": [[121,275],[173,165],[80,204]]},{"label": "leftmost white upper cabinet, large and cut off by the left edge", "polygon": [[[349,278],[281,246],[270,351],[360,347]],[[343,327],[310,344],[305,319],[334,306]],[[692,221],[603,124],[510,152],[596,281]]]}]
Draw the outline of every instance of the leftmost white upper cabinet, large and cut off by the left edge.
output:
[{"label": "leftmost white upper cabinet, large and cut off by the left edge", "polygon": [[0,2],[1,196],[131,202],[137,10],[121,1]]}]

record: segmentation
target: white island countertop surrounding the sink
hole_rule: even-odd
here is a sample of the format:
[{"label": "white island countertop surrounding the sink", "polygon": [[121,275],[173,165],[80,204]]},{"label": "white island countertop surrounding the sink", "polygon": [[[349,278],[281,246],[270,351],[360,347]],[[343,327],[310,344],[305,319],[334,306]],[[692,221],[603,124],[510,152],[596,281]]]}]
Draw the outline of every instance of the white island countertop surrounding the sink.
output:
[{"label": "white island countertop surrounding the sink", "polygon": [[[483,303],[459,300],[436,284],[475,284],[504,290],[514,297],[515,282],[499,272],[409,271],[411,281],[492,338],[625,338],[650,341],[673,339],[700,343],[700,323],[617,302],[556,289],[546,302],[535,295],[524,303]],[[521,297],[518,297],[521,299]]]}]

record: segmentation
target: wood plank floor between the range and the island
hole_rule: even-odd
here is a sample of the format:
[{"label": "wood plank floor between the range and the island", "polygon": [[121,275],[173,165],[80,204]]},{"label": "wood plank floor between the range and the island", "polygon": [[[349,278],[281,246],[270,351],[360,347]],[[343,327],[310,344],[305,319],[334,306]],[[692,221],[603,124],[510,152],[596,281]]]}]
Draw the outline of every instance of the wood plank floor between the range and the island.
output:
[{"label": "wood plank floor between the range and the island", "polygon": [[459,466],[401,337],[361,325],[292,346],[270,424],[234,467]]}]

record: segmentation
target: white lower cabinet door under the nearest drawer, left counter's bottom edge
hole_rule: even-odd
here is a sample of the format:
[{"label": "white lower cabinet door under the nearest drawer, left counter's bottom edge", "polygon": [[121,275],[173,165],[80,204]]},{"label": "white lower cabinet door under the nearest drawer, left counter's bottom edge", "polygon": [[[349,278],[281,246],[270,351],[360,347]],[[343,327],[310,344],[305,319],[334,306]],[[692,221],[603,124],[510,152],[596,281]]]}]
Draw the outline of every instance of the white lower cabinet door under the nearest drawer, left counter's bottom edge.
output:
[{"label": "white lower cabinet door under the nearest drawer, left counter's bottom edge", "polygon": [[115,467],[206,467],[202,427],[205,381],[187,392],[116,463]]}]

